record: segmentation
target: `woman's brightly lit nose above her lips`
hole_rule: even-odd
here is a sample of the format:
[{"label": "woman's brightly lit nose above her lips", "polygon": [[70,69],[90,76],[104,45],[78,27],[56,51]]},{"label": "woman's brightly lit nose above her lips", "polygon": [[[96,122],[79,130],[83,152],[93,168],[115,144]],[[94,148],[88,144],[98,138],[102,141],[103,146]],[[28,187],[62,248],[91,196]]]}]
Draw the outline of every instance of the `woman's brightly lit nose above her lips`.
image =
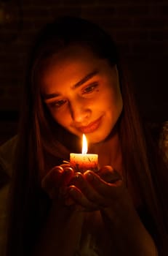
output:
[{"label": "woman's brightly lit nose above her lips", "polygon": [[90,110],[81,102],[73,103],[73,105],[71,104],[70,110],[73,121],[76,121],[77,123],[82,123],[89,118]]}]

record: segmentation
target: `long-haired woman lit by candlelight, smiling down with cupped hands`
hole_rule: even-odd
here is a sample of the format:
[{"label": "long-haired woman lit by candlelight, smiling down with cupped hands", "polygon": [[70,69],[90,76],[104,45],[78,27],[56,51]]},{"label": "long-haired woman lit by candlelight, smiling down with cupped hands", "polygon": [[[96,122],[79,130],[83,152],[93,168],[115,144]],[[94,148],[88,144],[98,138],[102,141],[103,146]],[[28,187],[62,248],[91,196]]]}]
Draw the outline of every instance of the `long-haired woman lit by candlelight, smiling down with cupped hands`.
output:
[{"label": "long-haired woman lit by candlelight, smiling down with cupped hands", "polygon": [[[47,25],[22,109],[7,255],[167,255],[167,168],[111,37],[81,18]],[[98,172],[63,163],[83,133]]]}]

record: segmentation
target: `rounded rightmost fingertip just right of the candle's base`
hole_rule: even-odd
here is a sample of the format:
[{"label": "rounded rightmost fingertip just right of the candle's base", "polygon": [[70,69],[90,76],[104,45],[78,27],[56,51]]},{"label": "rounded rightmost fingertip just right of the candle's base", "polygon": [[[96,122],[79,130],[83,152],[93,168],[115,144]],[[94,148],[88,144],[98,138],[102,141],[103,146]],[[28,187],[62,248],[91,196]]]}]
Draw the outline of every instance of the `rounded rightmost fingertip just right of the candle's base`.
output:
[{"label": "rounded rightmost fingertip just right of the candle's base", "polygon": [[97,174],[108,183],[114,183],[122,178],[121,175],[110,165],[105,165],[100,168],[99,173]]}]

